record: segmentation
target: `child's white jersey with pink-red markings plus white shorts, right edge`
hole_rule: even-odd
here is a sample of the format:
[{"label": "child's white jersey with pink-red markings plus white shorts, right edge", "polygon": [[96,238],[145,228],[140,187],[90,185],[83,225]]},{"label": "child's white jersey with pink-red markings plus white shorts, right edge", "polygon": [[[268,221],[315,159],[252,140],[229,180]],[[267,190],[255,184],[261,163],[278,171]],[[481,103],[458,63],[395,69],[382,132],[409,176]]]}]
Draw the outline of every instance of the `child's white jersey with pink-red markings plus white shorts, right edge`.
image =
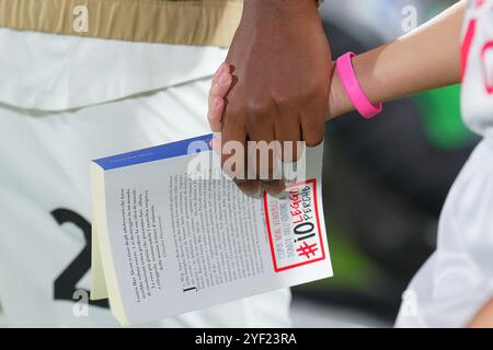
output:
[{"label": "child's white jersey with pink-red markings plus white shorts, right edge", "polygon": [[493,0],[468,2],[462,73],[462,116],[484,139],[448,195],[437,249],[404,293],[398,327],[463,327],[493,298]]}]

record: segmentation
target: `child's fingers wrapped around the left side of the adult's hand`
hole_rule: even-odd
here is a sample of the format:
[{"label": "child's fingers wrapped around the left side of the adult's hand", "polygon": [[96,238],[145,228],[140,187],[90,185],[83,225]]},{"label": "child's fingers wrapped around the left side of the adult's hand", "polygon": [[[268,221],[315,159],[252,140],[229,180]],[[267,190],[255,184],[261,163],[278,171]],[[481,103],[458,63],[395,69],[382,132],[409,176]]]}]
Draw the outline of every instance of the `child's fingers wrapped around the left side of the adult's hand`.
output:
[{"label": "child's fingers wrapped around the left side of the adult's hand", "polygon": [[213,85],[209,91],[209,110],[207,119],[209,121],[210,129],[214,132],[215,140],[210,142],[210,145],[215,152],[221,154],[220,150],[220,132],[222,114],[225,112],[226,101],[225,97],[228,94],[232,84],[231,68],[228,63],[219,66],[216,74],[213,78]]}]

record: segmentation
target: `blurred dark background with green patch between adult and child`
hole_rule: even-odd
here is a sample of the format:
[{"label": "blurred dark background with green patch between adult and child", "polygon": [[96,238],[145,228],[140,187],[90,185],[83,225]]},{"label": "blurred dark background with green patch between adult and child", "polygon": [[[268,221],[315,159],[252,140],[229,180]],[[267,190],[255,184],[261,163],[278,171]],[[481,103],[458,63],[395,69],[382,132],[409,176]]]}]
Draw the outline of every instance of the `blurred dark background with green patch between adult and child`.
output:
[{"label": "blurred dark background with green patch between adult and child", "polygon": [[[405,7],[421,24],[454,2],[326,0],[333,56],[403,35]],[[389,103],[370,121],[352,114],[328,124],[323,186],[334,277],[294,289],[295,324],[391,326],[435,248],[440,208],[477,142],[461,119],[458,85]]]}]

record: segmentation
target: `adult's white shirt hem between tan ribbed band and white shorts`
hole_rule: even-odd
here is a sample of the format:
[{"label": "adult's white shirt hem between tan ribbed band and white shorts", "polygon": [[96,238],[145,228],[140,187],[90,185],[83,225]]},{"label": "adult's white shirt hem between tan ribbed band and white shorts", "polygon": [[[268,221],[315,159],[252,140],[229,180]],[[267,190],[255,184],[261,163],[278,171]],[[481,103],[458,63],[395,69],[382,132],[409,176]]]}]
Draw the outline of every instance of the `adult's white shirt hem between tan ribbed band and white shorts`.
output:
[{"label": "adult's white shirt hem between tan ribbed band and white shorts", "polygon": [[[0,102],[65,110],[210,77],[213,46],[130,43],[0,28]],[[7,50],[7,48],[9,48]]]}]

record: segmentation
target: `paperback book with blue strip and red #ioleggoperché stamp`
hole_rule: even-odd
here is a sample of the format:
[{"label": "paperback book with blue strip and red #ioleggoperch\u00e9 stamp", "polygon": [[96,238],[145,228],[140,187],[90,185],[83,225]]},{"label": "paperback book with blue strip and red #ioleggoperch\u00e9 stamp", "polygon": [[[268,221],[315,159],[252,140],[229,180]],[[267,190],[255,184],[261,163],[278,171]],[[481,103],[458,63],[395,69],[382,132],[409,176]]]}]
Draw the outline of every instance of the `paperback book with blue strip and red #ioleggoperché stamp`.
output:
[{"label": "paperback book with blue strip and red #ioleggoperch\u00e9 stamp", "polygon": [[306,178],[285,196],[253,199],[213,176],[210,139],[91,164],[91,299],[108,298],[124,326],[332,276],[323,147],[306,150]]}]

